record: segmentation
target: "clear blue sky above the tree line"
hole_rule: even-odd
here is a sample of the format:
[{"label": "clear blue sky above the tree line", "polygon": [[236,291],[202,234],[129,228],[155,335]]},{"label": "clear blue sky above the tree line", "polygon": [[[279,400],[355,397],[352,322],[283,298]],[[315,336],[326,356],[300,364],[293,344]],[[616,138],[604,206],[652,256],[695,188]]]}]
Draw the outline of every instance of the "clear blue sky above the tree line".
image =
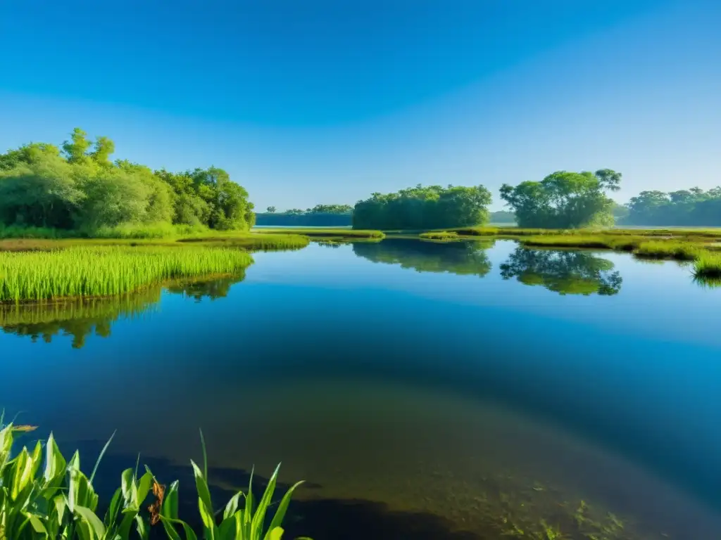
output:
[{"label": "clear blue sky above the tree line", "polygon": [[721,2],[11,0],[0,150],[74,126],[257,207],[622,171],[721,184]]}]

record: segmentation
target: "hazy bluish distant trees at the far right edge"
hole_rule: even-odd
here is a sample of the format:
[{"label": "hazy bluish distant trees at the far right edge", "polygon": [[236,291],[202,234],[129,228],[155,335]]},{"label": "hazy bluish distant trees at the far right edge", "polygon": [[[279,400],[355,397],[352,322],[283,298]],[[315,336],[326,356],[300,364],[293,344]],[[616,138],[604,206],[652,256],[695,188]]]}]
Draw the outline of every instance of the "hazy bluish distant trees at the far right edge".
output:
[{"label": "hazy bluish distant trees at the far right edge", "polygon": [[629,225],[721,225],[721,186],[641,192],[627,204]]}]

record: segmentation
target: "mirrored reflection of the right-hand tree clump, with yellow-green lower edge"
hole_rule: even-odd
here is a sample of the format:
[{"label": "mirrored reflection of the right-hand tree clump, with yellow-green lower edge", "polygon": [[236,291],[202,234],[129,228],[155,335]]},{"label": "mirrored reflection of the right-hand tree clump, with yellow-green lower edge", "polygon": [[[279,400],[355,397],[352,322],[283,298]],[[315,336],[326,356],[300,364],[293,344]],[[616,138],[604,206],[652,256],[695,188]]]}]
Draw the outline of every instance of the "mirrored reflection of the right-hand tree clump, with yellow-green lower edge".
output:
[{"label": "mirrored reflection of the right-hand tree clump, with yellow-green lower edge", "polygon": [[623,279],[611,261],[588,251],[547,251],[518,247],[500,265],[503,279],[541,285],[559,294],[601,294],[621,290]]}]

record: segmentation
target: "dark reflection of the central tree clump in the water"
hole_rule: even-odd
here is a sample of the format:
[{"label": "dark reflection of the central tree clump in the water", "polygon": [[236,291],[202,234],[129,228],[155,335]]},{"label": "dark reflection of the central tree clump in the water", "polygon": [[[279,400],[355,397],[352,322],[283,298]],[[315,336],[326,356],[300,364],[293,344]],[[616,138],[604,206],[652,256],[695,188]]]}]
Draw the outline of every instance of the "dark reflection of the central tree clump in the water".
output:
[{"label": "dark reflection of the central tree clump in the water", "polygon": [[419,272],[450,272],[483,277],[492,269],[485,250],[493,240],[434,243],[418,240],[383,240],[354,243],[353,253],[374,263],[399,264]]}]

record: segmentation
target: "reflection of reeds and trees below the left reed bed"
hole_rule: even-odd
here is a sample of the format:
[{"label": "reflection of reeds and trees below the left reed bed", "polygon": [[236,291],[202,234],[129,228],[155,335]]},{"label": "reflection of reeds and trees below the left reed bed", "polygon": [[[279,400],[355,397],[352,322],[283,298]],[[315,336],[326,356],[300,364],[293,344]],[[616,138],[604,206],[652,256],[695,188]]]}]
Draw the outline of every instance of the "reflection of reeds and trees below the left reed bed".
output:
[{"label": "reflection of reeds and trees below the left reed bed", "polygon": [[33,342],[51,343],[56,336],[71,336],[71,346],[82,348],[87,336],[110,336],[113,323],[135,319],[160,302],[163,289],[200,302],[226,297],[231,285],[245,274],[216,279],[183,280],[111,298],[70,299],[60,302],[0,305],[0,328],[4,333],[28,336]]}]

